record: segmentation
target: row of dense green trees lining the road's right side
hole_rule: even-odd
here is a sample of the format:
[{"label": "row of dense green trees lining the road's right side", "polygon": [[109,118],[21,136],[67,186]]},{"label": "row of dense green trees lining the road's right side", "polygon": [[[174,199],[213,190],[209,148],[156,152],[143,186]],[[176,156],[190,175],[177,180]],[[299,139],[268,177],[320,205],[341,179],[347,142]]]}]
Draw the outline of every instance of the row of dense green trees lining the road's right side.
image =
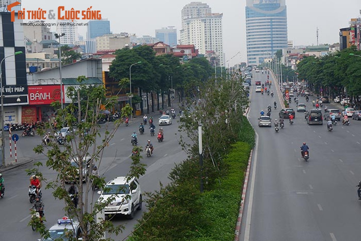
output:
[{"label": "row of dense green trees lining the road's right side", "polygon": [[321,58],[306,57],[297,65],[299,79],[308,81],[316,93],[347,95],[353,102],[360,102],[361,57],[356,55],[361,56],[361,51],[351,47]]}]

